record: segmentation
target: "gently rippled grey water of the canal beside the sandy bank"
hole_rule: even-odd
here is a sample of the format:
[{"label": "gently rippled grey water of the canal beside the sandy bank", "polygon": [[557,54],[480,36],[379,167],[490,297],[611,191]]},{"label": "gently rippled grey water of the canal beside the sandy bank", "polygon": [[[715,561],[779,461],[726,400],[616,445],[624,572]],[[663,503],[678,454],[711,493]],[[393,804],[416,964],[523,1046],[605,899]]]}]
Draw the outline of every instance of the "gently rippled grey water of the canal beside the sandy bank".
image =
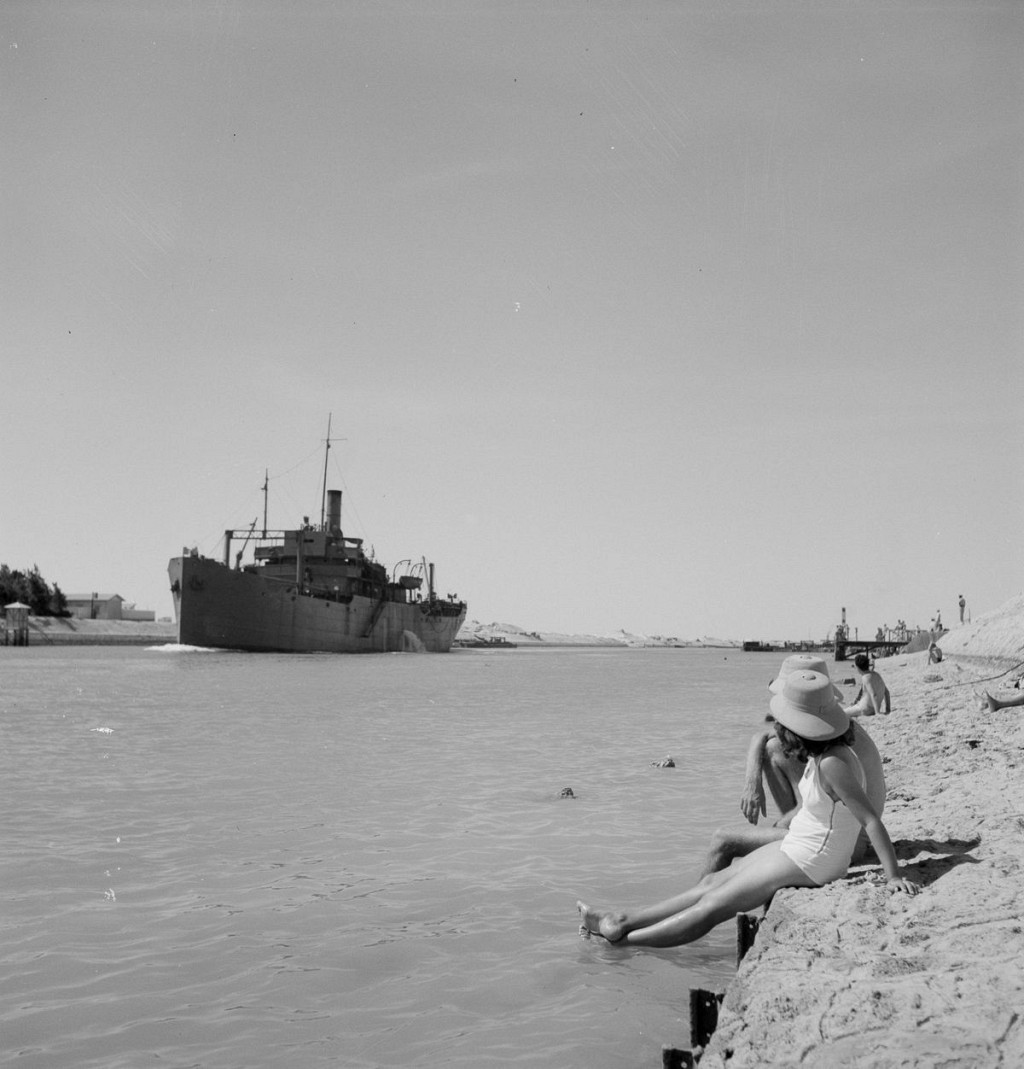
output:
[{"label": "gently rippled grey water of the canal beside the sandy bank", "polygon": [[4,1063],[661,1065],[734,929],[575,900],[696,877],[779,660],[0,650]]}]

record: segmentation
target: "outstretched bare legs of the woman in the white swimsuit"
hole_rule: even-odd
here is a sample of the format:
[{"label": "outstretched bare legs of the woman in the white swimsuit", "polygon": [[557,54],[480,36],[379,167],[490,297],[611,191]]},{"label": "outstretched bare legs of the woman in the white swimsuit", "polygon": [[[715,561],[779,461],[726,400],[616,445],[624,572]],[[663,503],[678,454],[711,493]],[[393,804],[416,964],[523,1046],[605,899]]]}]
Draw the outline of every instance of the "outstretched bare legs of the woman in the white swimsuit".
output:
[{"label": "outstretched bare legs of the woman in the white swimsuit", "polygon": [[705,935],[723,920],[763,905],[781,887],[814,887],[779,850],[769,842],[720,872],[704,877],[696,887],[656,905],[622,912],[576,908],[581,928],[603,935],[609,943],[630,946],[681,946]]}]

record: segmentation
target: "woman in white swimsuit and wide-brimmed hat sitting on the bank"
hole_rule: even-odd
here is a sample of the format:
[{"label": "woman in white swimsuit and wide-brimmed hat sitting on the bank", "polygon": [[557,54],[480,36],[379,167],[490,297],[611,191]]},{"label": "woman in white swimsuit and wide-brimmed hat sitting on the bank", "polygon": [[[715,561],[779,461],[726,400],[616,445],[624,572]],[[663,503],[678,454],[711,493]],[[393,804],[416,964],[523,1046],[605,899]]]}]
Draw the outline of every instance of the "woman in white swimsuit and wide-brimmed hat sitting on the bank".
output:
[{"label": "woman in white swimsuit and wide-brimmed hat sitting on the bank", "polygon": [[691,943],[738,913],[764,905],[782,887],[820,887],[845,876],[862,826],[882,861],[889,889],[918,892],[900,872],[885,825],[865,794],[864,770],[848,744],[850,718],[828,677],[793,672],[771,708],[782,746],[807,758],[801,808],[786,838],[759,847],[656,905],[616,912],[577,902],[580,935],[603,935],[629,946]]}]

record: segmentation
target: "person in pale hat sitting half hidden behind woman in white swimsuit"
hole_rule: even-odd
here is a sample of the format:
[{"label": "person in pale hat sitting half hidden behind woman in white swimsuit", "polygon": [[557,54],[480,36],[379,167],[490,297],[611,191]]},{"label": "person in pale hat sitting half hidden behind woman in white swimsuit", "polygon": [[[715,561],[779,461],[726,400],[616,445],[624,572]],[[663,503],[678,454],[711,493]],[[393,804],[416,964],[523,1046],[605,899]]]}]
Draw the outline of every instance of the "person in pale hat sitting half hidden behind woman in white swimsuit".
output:
[{"label": "person in pale hat sitting half hidden behind woman in white swimsuit", "polygon": [[[769,691],[772,694],[779,694],[789,676],[801,669],[828,675],[828,666],[823,657],[809,653],[793,654],[782,662],[778,676],[769,684]],[[841,692],[835,686],[833,694],[837,701],[842,700]],[[780,842],[789,831],[790,821],[800,808],[798,785],[804,775],[806,761],[787,756],[775,731],[775,718],[769,713],[764,719],[764,727],[755,732],[750,739],[747,749],[746,780],[740,799],[743,816],[756,826],[716,827],[711,836],[701,877],[720,871],[736,857],[744,857],[767,842]],[[885,808],[886,796],[882,757],[874,741],[859,722],[854,722],[853,729],[850,748],[864,769],[868,801],[881,816]],[[758,825],[758,818],[767,815],[764,785],[767,786],[772,801],[781,816],[772,824]],[[852,863],[860,864],[867,856],[869,847],[867,834],[862,831],[854,847]]]}]

